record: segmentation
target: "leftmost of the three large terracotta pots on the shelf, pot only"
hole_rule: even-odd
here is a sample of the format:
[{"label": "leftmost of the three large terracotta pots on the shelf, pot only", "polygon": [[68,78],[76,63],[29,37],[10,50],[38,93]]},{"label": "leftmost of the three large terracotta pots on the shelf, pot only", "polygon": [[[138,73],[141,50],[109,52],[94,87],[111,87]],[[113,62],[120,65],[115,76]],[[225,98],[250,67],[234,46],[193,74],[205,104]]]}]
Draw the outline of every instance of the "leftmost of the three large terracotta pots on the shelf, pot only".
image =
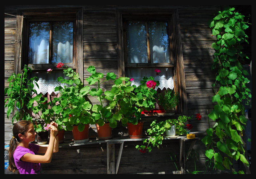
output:
[{"label": "leftmost of the three large terracotta pots on the shelf, pot only", "polygon": [[84,130],[80,132],[77,126],[73,126],[72,134],[75,143],[84,143],[89,140],[89,124],[84,124]]}]

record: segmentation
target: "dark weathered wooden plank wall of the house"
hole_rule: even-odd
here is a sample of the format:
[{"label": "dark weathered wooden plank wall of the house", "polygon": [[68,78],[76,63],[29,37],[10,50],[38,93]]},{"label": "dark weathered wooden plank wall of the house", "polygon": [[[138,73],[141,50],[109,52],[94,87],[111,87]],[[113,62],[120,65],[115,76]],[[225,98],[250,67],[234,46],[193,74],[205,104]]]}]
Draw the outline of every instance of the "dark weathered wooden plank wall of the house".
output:
[{"label": "dark weathered wooden plank wall of the house", "polygon": [[[78,5],[54,5],[54,8],[77,7]],[[79,5],[83,8],[83,69],[84,84],[90,75],[86,68],[93,65],[96,70],[107,74],[114,72],[118,76],[117,51],[117,17],[116,8],[152,8],[177,9],[180,24],[182,43],[185,85],[187,95],[188,115],[201,113],[202,120],[189,121],[193,129],[201,131],[213,125],[208,123],[207,115],[213,109],[211,97],[214,95],[211,84],[215,82],[215,71],[211,71],[214,50],[211,45],[216,41],[212,36],[207,21],[214,17],[223,7],[218,5],[164,5],[161,6],[117,6],[117,5]],[[7,5],[4,14],[4,87],[8,87],[8,77],[14,72],[14,49],[16,33],[16,12],[18,9],[51,8],[48,5]],[[14,15],[14,16],[13,16]],[[103,84],[101,87],[108,90],[113,83]],[[6,98],[5,96],[4,98]],[[97,101],[90,98],[92,103]],[[6,117],[4,109],[4,142],[9,143],[12,137],[12,122]],[[161,118],[160,120],[165,120]],[[154,118],[145,119],[144,133]],[[91,134],[95,127],[91,126]],[[198,135],[201,139],[204,134]],[[65,140],[71,140],[72,133],[67,132]],[[135,146],[142,142],[125,142],[118,173],[120,174],[172,174],[176,170],[174,162],[170,159],[171,152],[179,157],[179,142],[164,140],[160,149],[153,148],[152,152],[140,153]],[[196,165],[198,171],[205,170],[205,146],[201,141],[196,142],[194,149],[199,158]],[[116,144],[116,158],[119,145]],[[47,174],[104,174],[107,173],[106,143],[60,147],[58,153],[53,154],[52,162],[42,164],[43,173]],[[178,162],[176,162],[177,165]],[[189,171],[195,168],[194,160],[188,160]],[[223,172],[223,171],[222,171]]]}]

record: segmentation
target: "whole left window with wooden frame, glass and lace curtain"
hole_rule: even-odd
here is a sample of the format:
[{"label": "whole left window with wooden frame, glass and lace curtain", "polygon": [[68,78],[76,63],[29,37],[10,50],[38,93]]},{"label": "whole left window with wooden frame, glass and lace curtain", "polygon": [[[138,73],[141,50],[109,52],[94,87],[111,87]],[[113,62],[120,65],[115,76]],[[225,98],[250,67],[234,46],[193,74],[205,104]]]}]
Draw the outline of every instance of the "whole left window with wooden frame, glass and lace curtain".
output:
[{"label": "whole left window with wooden frame, glass and lace curtain", "polygon": [[[63,75],[59,62],[75,69],[83,82],[83,9],[18,11],[15,73],[27,64],[39,78],[38,93],[52,94]],[[47,69],[53,69],[51,75]]]}]

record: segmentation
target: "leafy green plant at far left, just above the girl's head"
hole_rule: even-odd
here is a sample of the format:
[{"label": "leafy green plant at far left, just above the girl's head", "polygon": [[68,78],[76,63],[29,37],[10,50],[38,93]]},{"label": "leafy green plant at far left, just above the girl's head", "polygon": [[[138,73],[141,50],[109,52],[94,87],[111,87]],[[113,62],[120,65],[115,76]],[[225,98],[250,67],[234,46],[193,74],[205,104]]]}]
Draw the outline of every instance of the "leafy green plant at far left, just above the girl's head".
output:
[{"label": "leafy green plant at far left, just above the girl's head", "polygon": [[9,87],[4,89],[4,94],[9,96],[4,100],[4,107],[8,107],[7,110],[7,118],[12,112],[14,115],[12,117],[12,124],[14,120],[30,120],[29,114],[26,112],[27,105],[29,100],[32,98],[31,94],[36,93],[34,88],[34,84],[38,87],[36,83],[38,81],[37,77],[32,77],[28,79],[28,71],[31,72],[31,68],[27,65],[24,66],[23,70],[21,70],[20,74],[12,74],[8,78]]}]

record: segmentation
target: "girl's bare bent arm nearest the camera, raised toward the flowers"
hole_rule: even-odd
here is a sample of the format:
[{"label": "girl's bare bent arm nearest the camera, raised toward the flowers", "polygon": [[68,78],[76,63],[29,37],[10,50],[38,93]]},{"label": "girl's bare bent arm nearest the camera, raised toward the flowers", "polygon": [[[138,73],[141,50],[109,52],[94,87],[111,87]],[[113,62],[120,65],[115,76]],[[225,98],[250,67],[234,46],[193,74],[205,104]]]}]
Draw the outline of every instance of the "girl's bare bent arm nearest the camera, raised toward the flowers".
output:
[{"label": "girl's bare bent arm nearest the camera, raised toward the flowers", "polygon": [[[31,153],[26,153],[20,159],[22,161],[32,162],[32,163],[50,163],[52,161],[53,148],[54,148],[54,146],[56,146],[54,144],[56,141],[55,136],[57,135],[57,133],[58,133],[58,128],[53,126],[51,123],[50,141],[49,141],[49,145],[47,147],[45,154],[44,155],[34,155]],[[58,141],[57,145],[59,146],[59,141]],[[40,150],[40,147],[39,147],[39,150]]]}]

